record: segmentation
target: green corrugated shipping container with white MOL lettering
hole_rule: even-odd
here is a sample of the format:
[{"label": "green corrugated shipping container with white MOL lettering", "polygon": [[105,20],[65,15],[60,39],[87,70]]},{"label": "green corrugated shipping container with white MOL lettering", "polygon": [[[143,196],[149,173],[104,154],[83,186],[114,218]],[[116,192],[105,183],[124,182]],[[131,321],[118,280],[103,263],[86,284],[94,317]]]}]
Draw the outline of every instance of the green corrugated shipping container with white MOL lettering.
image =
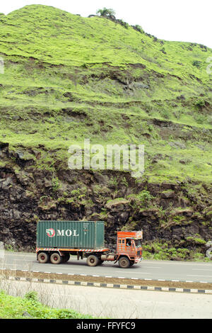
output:
[{"label": "green corrugated shipping container with white MOL lettering", "polygon": [[105,222],[39,221],[37,247],[100,249],[105,246]]}]

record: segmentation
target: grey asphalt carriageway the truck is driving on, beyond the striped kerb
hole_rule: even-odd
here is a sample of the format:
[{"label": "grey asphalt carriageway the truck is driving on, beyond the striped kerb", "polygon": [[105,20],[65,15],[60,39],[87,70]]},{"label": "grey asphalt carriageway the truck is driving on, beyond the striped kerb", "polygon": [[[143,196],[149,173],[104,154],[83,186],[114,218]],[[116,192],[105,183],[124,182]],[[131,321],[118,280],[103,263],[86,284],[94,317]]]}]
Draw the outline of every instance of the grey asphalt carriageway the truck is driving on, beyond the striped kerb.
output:
[{"label": "grey asphalt carriageway the truck is driving on, beyond the striped kerb", "polygon": [[159,261],[142,260],[129,269],[120,269],[118,264],[105,261],[101,266],[90,267],[86,259],[76,260],[73,256],[65,264],[40,264],[33,253],[4,252],[0,268],[48,273],[66,273],[119,278],[141,278],[165,281],[193,281],[212,283],[212,261]]}]

